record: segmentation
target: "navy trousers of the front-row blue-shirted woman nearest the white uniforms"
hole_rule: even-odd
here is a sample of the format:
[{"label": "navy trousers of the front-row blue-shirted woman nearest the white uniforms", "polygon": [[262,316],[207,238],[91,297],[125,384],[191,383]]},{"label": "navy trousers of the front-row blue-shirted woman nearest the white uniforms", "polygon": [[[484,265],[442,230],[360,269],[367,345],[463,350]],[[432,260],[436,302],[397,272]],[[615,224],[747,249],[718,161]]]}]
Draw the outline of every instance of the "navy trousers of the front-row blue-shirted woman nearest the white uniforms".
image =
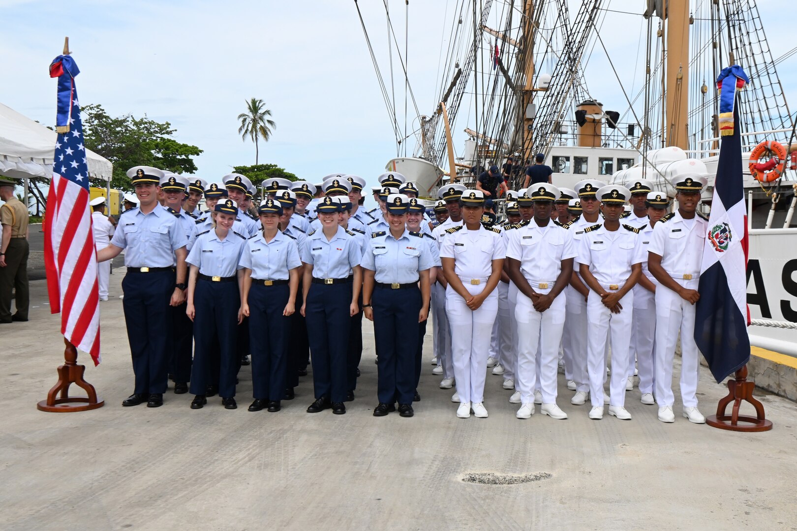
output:
[{"label": "navy trousers of the front-row blue-shirted woman nearest the white uniforms", "polygon": [[375,286],[371,295],[374,339],[379,355],[379,402],[412,404],[415,394],[415,357],[418,352],[418,313],[421,290],[391,290]]}]

